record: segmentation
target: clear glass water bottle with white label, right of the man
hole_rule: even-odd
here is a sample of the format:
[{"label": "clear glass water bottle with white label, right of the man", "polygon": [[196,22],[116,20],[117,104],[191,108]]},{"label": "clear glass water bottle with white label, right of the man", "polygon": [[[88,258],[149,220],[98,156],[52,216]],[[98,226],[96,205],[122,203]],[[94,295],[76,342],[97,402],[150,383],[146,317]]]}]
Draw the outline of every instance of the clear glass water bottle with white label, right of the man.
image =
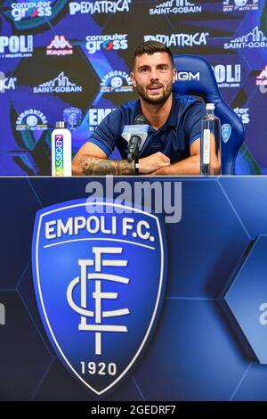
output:
[{"label": "clear glass water bottle with white label, right of the man", "polygon": [[200,175],[221,175],[221,121],[214,115],[214,103],[206,103],[201,120]]}]

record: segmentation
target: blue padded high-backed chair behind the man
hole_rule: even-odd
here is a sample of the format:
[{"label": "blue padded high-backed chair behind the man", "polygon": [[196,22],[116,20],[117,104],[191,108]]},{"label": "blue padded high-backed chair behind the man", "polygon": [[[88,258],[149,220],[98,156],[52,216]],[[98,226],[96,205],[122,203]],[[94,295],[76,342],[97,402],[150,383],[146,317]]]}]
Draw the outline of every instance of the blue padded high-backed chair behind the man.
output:
[{"label": "blue padded high-backed chair behind the man", "polygon": [[235,160],[245,140],[245,129],[239,116],[223,101],[210,64],[196,55],[176,55],[178,71],[173,90],[177,94],[200,96],[206,103],[214,103],[215,115],[222,125],[222,173],[234,175]]}]

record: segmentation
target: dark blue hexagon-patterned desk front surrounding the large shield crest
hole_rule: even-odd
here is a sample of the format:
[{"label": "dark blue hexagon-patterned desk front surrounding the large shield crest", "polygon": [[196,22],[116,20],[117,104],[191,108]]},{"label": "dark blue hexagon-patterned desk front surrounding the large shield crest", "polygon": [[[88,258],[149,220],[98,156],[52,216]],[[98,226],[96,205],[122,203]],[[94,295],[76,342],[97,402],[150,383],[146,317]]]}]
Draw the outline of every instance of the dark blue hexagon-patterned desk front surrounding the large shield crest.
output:
[{"label": "dark blue hexagon-patterned desk front surrounding the large shield crest", "polygon": [[[105,191],[105,178],[96,180]],[[134,186],[134,178],[123,180]],[[170,178],[150,179],[154,180]],[[0,325],[1,400],[95,400],[53,353],[36,308],[30,266],[36,210],[85,197],[89,181],[0,178],[0,193],[5,197],[0,208],[0,303],[6,308],[6,325]],[[114,179],[114,183],[121,181]],[[267,400],[263,391],[267,368],[243,346],[244,316],[254,310],[256,322],[266,295],[266,237],[257,237],[267,233],[267,179],[187,177],[174,181],[182,181],[182,219],[166,225],[168,283],[158,329],[133,374],[103,400]],[[249,284],[251,276],[254,281]],[[231,292],[237,290],[239,307],[233,309],[236,316],[240,309],[242,335],[232,327],[233,316],[225,316],[222,310],[226,290],[231,308],[235,300]],[[262,299],[257,300],[254,292],[260,292]],[[266,326],[256,327],[262,327],[256,332],[259,337]],[[247,339],[262,361],[264,349],[260,352],[248,334]]]}]

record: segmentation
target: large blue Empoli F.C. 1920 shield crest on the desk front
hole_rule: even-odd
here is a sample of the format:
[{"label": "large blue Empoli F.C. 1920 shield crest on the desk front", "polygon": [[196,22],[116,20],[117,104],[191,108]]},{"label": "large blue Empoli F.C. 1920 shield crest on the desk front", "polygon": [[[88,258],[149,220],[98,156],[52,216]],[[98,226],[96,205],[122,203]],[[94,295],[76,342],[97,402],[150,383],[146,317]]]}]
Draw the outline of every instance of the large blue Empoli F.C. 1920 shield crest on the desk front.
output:
[{"label": "large blue Empoli F.C. 1920 shield crest on the desk front", "polygon": [[163,221],[142,209],[78,200],[37,212],[39,312],[63,365],[94,393],[128,374],[148,343],[163,301],[165,258]]}]

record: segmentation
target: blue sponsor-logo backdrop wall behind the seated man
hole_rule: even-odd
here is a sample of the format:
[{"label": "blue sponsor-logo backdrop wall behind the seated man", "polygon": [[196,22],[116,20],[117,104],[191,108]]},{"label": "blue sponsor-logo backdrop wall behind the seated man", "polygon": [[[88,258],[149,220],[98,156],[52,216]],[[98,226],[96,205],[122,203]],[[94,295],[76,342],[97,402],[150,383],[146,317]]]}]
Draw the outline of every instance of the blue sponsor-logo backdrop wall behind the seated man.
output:
[{"label": "blue sponsor-logo backdrop wall behind the seated man", "polygon": [[109,111],[134,100],[131,57],[149,39],[214,67],[246,128],[235,172],[267,173],[263,0],[0,0],[0,16],[0,175],[50,174],[51,129],[65,109],[81,110],[77,152]]}]

